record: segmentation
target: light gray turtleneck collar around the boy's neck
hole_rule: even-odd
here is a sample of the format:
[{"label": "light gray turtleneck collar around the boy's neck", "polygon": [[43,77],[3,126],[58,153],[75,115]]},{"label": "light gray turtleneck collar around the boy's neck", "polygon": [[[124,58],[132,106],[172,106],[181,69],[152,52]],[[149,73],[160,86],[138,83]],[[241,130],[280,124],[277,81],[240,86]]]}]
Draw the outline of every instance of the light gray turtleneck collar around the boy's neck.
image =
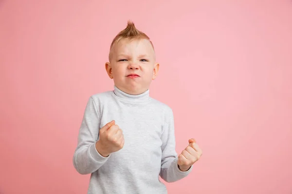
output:
[{"label": "light gray turtleneck collar around the boy's neck", "polygon": [[147,100],[150,99],[149,97],[149,89],[142,93],[142,94],[139,94],[139,95],[131,95],[131,94],[127,94],[125,92],[123,92],[122,90],[120,90],[119,88],[117,88],[115,85],[114,85],[114,89],[113,89],[113,94],[122,99],[122,100],[125,100],[125,101],[129,101],[129,102],[145,102]]}]

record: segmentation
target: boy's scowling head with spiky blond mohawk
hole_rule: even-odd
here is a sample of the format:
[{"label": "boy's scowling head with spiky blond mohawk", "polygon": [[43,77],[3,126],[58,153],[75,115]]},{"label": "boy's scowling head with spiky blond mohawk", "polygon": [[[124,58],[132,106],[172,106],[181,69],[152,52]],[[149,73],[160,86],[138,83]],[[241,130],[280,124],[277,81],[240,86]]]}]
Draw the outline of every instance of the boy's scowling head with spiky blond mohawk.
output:
[{"label": "boy's scowling head with spiky blond mohawk", "polygon": [[149,37],[136,29],[134,23],[113,39],[106,70],[114,84],[122,91],[138,95],[148,90],[157,76],[159,64]]}]

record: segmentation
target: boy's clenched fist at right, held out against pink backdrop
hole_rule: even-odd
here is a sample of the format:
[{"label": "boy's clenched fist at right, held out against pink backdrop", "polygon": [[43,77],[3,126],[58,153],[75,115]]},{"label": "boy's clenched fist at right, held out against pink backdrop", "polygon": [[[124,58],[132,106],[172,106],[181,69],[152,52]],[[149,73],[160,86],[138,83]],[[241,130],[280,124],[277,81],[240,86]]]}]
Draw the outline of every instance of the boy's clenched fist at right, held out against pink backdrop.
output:
[{"label": "boy's clenched fist at right, held out against pink backdrop", "polygon": [[187,171],[202,155],[202,150],[195,139],[189,140],[189,145],[179,155],[178,165],[181,171]]}]

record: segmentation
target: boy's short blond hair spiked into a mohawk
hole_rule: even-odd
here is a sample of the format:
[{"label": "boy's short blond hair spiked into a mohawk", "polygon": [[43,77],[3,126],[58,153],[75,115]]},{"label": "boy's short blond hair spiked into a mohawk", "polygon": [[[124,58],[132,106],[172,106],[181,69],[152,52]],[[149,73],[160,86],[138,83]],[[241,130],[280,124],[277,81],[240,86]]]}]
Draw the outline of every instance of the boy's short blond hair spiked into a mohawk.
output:
[{"label": "boy's short blond hair spiked into a mohawk", "polygon": [[149,40],[149,42],[152,45],[152,48],[154,49],[154,46],[152,44],[152,42],[150,41],[150,38],[144,33],[139,31],[136,27],[135,24],[128,20],[128,25],[127,27],[122,30],[121,32],[119,32],[114,39],[112,40],[111,44],[110,44],[110,53],[109,53],[109,59],[110,59],[110,55],[111,55],[111,49],[113,48],[113,46],[115,44],[117,44],[120,40],[122,39],[129,39],[129,40],[133,40],[133,39],[146,39]]}]

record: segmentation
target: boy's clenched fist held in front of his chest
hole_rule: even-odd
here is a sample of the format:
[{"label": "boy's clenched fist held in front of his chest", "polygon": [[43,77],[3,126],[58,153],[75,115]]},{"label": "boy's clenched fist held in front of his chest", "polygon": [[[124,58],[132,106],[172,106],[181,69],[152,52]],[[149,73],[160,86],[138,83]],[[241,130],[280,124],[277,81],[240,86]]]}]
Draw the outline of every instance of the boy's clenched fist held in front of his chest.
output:
[{"label": "boy's clenched fist held in front of his chest", "polygon": [[108,157],[110,153],[119,151],[125,143],[122,129],[111,121],[99,130],[99,140],[95,148],[100,155]]}]

